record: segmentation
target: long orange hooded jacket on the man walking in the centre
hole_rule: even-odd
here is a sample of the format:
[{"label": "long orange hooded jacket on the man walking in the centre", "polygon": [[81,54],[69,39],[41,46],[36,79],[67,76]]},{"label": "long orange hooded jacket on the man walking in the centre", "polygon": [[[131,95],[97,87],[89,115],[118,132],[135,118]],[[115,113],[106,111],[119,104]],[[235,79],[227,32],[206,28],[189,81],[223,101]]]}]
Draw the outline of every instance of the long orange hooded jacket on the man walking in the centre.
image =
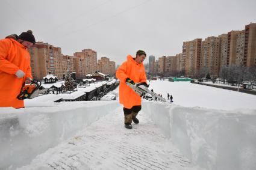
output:
[{"label": "long orange hooded jacket on the man walking in the centre", "polygon": [[127,61],[117,68],[116,77],[120,80],[119,102],[123,107],[130,109],[133,106],[142,105],[140,96],[126,85],[125,80],[129,77],[135,83],[146,82],[144,65],[137,63],[133,56],[128,55]]}]

